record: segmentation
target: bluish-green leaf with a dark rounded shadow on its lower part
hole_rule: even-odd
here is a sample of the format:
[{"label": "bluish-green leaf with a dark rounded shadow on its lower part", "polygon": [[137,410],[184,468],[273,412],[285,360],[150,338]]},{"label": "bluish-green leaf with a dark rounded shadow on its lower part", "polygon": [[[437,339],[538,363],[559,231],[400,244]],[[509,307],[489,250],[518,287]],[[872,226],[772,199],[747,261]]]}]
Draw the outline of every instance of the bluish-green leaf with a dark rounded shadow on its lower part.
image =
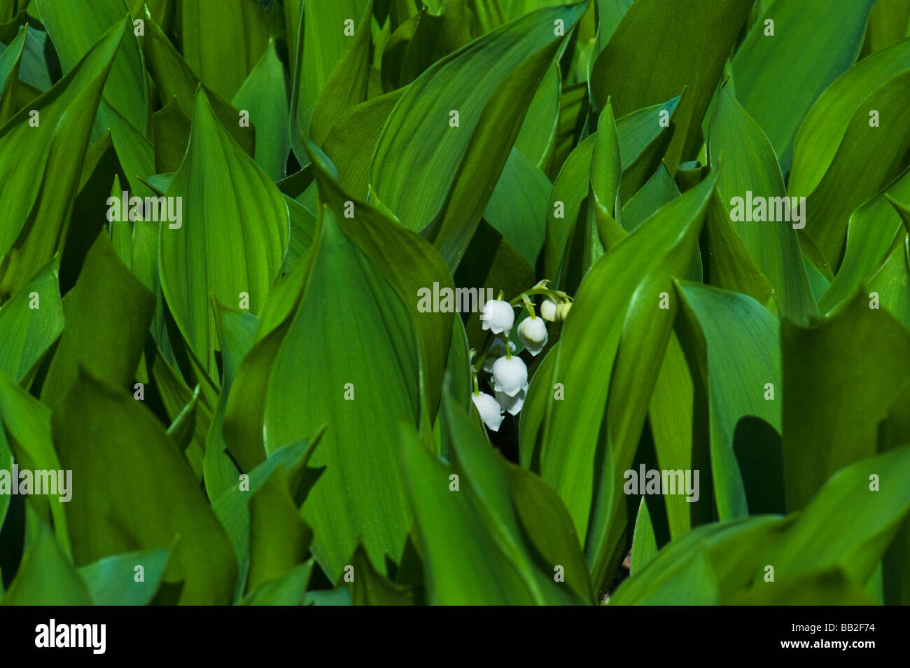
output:
[{"label": "bluish-green leaf with a dark rounded shadow on its lower part", "polygon": [[780,323],[737,292],[681,283],[678,294],[708,397],[718,516],[782,512]]}]

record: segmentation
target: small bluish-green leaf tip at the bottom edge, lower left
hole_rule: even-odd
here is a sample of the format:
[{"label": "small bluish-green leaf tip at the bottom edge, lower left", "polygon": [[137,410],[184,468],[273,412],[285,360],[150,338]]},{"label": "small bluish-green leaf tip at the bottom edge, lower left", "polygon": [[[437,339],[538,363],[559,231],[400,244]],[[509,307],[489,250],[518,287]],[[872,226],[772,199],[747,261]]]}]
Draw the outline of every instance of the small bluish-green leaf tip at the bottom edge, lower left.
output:
[{"label": "small bluish-green leaf tip at the bottom edge, lower left", "polygon": [[147,605],[158,591],[170,553],[164,548],[114,554],[83,566],[78,573],[98,605]]}]

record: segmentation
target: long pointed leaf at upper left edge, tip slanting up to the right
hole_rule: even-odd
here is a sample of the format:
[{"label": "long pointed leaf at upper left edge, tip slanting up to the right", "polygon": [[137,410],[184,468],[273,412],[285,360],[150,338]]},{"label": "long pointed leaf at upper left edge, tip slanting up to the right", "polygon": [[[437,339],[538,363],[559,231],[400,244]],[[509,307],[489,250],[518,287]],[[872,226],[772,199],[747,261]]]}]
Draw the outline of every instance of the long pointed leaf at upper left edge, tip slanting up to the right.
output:
[{"label": "long pointed leaf at upper left edge, tip slanting up to the right", "polygon": [[113,26],[31,109],[0,127],[0,210],[8,221],[0,226],[0,299],[22,288],[62,246],[101,90],[126,25],[124,19]]}]

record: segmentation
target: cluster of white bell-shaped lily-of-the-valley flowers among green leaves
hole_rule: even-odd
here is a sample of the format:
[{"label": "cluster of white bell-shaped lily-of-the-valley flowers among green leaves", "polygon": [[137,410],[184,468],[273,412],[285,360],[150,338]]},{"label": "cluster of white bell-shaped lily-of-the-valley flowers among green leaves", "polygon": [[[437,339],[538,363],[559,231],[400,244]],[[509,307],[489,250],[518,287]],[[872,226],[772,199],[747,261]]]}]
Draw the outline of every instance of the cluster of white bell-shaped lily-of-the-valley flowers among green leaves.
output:
[{"label": "cluster of white bell-shaped lily-of-the-valley flowers among green leaves", "polygon": [[[524,360],[515,353],[517,347],[509,339],[515,325],[515,309],[523,308],[527,317],[518,325],[518,338],[521,345],[536,357],[547,345],[549,339],[544,320],[565,319],[571,308],[571,298],[560,290],[547,288],[549,281],[541,280],[536,286],[511,301],[504,301],[502,293],[498,299],[490,299],[483,305],[480,322],[483,329],[495,335],[490,340],[484,354],[476,363],[472,363],[474,393],[471,399],[480,413],[480,418],[490,430],[499,431],[503,413],[508,410],[511,415],[518,415],[524,405],[525,393],[528,390],[528,367]],[[531,297],[542,295],[541,315],[534,311]],[[489,340],[489,339],[488,339]],[[472,362],[474,360],[472,353]],[[478,375],[480,370],[490,373],[490,388],[495,396],[480,391]]]}]

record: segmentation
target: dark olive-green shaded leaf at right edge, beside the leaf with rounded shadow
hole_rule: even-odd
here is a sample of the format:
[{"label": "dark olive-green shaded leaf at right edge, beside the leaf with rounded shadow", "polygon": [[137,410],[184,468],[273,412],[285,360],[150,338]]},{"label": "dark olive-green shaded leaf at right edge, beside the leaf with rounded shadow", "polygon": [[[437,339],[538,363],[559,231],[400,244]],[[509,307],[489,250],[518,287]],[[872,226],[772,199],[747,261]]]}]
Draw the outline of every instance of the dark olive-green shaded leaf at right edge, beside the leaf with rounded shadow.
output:
[{"label": "dark olive-green shaded leaf at right edge, beside the leaf with rounded shadow", "polygon": [[860,293],[813,328],[784,321],[781,355],[784,481],[794,511],[834,471],[875,454],[877,425],[910,374],[910,332]]}]

